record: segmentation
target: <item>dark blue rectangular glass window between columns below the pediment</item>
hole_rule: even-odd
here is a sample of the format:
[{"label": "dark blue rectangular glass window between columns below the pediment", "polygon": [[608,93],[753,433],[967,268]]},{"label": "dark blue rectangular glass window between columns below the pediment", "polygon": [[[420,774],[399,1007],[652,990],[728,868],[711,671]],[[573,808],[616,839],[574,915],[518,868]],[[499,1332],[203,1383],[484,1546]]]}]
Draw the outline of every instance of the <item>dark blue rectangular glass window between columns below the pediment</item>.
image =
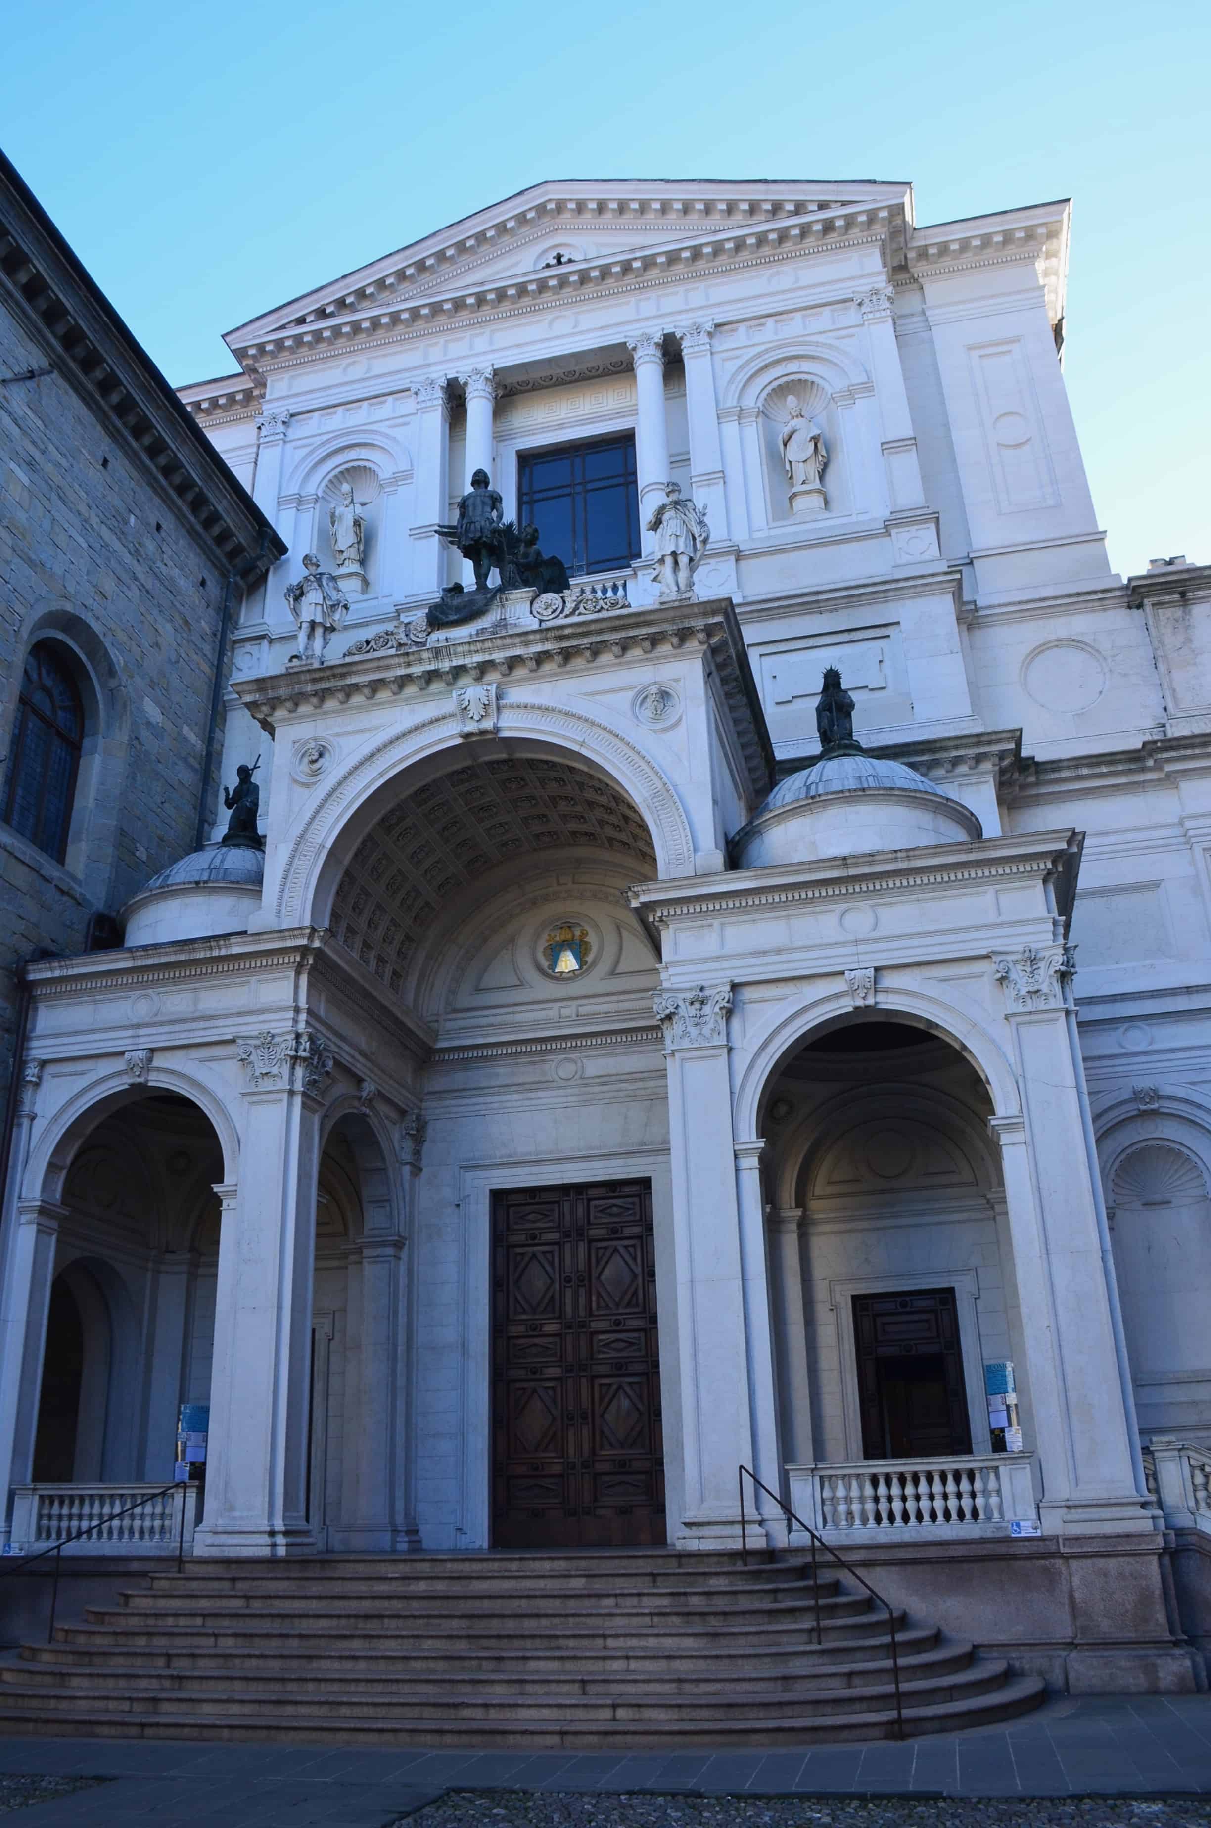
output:
[{"label": "dark blue rectangular glass window between columns below the pediment", "polygon": [[518,457],[518,525],[534,523],[541,548],[573,578],[624,570],[638,558],[635,439],[560,444]]}]

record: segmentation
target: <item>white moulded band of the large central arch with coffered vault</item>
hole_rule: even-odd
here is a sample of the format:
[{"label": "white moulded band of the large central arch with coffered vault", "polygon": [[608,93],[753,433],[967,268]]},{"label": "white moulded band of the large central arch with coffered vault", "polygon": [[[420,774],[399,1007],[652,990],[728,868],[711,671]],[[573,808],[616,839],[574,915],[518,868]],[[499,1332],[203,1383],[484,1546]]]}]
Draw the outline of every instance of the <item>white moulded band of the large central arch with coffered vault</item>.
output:
[{"label": "white moulded band of the large central arch with coffered vault", "polygon": [[[620,788],[642,813],[660,877],[693,874],[693,835],[668,775],[620,729],[569,706],[503,698],[499,739],[534,753],[574,757]],[[337,883],[359,841],[379,815],[375,797],[406,770],[466,753],[454,709],[393,731],[335,781],[296,832],[274,899],[280,927],[324,927]],[[435,770],[443,773],[443,768]],[[417,786],[421,782],[417,781]]]}]

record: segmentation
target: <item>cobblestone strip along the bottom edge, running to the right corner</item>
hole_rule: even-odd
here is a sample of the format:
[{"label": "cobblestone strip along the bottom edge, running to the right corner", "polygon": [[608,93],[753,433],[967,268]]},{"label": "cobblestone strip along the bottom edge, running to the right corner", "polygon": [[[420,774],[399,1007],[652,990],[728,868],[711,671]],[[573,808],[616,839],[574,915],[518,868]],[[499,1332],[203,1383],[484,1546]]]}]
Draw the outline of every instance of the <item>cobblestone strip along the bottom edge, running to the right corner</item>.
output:
[{"label": "cobblestone strip along the bottom edge, running to the right corner", "polygon": [[653,1797],[452,1791],[393,1828],[1204,1828],[1211,1802],[1076,1797],[951,1802],[887,1797]]}]

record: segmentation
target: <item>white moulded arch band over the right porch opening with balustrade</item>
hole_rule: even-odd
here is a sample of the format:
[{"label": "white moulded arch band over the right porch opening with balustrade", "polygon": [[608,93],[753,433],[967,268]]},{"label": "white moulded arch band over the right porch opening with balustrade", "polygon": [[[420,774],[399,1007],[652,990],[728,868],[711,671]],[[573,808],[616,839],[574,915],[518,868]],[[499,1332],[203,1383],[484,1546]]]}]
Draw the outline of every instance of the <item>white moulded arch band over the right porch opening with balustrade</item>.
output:
[{"label": "white moulded arch band over the right porch opening with balustrade", "polygon": [[[734,1124],[737,1139],[759,1137],[765,1117],[765,1097],[777,1068],[803,1042],[827,1024],[852,1016],[852,1004],[845,991],[831,991],[810,1004],[774,1016],[752,1044],[748,1060],[739,1075],[734,1099]],[[997,1117],[1021,1115],[1021,1091],[1017,1075],[1001,1044],[986,1027],[973,1022],[953,1004],[929,996],[924,991],[909,991],[900,985],[880,985],[876,1015],[880,1018],[902,1018],[916,1027],[929,1029],[940,1040],[948,1040],[971,1062],[982,1079]]]}]

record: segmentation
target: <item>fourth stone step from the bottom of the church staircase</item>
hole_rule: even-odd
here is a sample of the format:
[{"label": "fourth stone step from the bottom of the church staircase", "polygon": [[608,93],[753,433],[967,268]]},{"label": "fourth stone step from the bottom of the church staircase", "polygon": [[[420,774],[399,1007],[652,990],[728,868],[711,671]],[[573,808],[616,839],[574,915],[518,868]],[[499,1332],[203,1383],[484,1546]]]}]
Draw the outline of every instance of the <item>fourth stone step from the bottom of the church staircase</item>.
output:
[{"label": "fourth stone step from the bottom of the church staircase", "polygon": [[[71,1638],[68,1638],[68,1631],[73,1632]],[[97,1632],[90,1636],[86,1629],[64,1627],[55,1638],[53,1645],[26,1645],[20,1653],[22,1660],[26,1663],[53,1663],[57,1667],[121,1669],[128,1665],[134,1649],[124,1632]],[[896,1632],[896,1649],[902,1662],[937,1647],[937,1625],[906,1627]],[[229,1647],[139,1645],[139,1662],[145,1669],[230,1669],[232,1674],[243,1667],[280,1669],[282,1673],[296,1671],[298,1654],[296,1647],[274,1647],[271,1638],[260,1645],[252,1636]],[[737,1678],[763,1676],[768,1671],[812,1671],[814,1665],[825,1660],[840,1671],[851,1663],[885,1662],[889,1654],[891,1638],[884,1631],[882,1636],[852,1638],[849,1642],[825,1640],[823,1645],[803,1643],[799,1640],[779,1645],[774,1651],[756,1651],[748,1640],[743,1649],[724,1647],[701,1653],[653,1651],[648,1645],[627,1651],[596,1651],[589,1660],[589,1673],[595,1680],[627,1673],[635,1674],[640,1682],[668,1682],[681,1676],[686,1680],[701,1676],[710,1682],[735,1682]],[[406,1651],[360,1651],[351,1645],[335,1647],[322,1642],[315,1649],[305,1649],[305,1662],[307,1669],[331,1669],[333,1673],[362,1671],[368,1676],[379,1674],[384,1680],[395,1680],[397,1676],[424,1678],[426,1673],[441,1676],[445,1671],[474,1671],[485,1676],[499,1674],[505,1680],[512,1680],[514,1674],[530,1673],[549,1673],[556,1678],[582,1678],[585,1674],[585,1656],[582,1651],[551,1651],[547,1647],[541,1651],[461,1651],[450,1647],[435,1651],[417,1651],[412,1647]]]}]

